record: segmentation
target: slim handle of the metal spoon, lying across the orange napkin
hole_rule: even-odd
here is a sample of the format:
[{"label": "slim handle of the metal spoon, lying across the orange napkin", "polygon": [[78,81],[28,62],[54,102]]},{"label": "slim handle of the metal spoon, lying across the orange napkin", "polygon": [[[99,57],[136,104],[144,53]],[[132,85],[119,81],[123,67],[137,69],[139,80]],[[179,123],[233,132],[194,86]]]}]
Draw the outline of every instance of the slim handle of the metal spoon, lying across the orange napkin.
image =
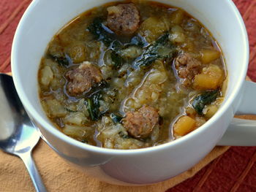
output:
[{"label": "slim handle of the metal spoon, lying across the orange napkin", "polygon": [[37,166],[34,164],[34,160],[31,156],[31,151],[27,153],[19,154],[19,157],[22,159],[23,163],[26,165],[26,169],[28,170],[31,180],[34,184],[34,188],[36,188],[37,192],[47,192],[45,185],[42,183],[41,176],[37,170]]}]

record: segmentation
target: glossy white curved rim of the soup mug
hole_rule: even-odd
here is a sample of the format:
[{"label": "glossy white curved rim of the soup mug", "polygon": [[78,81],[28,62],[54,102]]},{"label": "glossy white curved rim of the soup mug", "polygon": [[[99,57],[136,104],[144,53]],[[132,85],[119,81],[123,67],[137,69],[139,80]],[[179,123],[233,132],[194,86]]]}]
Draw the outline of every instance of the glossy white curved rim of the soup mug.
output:
[{"label": "glossy white curved rim of the soup mug", "polygon": [[[157,1],[157,0],[155,0]],[[68,137],[61,131],[59,131],[57,128],[55,128],[51,123],[48,123],[46,120],[42,118],[41,115],[37,112],[37,110],[34,109],[34,106],[30,103],[29,99],[26,96],[26,93],[23,91],[20,81],[20,74],[18,70],[18,61],[16,61],[16,55],[18,54],[18,39],[21,38],[23,28],[23,23],[26,23],[26,18],[29,17],[30,12],[33,12],[33,9],[35,6],[37,6],[37,1],[32,1],[31,4],[29,4],[29,7],[24,12],[22,18],[20,19],[20,22],[18,23],[18,27],[15,31],[15,36],[12,42],[12,52],[11,52],[11,67],[12,67],[12,75],[13,80],[15,84],[16,91],[18,92],[18,96],[20,97],[20,101],[22,101],[24,107],[26,110],[31,114],[31,116],[39,122],[39,124],[42,126],[42,128],[46,129],[53,137],[57,137],[58,139],[62,140],[63,142],[68,143],[69,145],[72,145],[74,147],[79,147],[82,150],[88,150],[94,153],[105,153],[109,155],[135,155],[135,154],[142,154],[142,153],[153,153],[157,150],[165,150],[167,147],[175,147],[176,145],[180,145],[183,142],[186,142],[186,140],[191,139],[192,137],[195,137],[195,135],[200,134],[205,130],[206,128],[209,128],[211,124],[214,123],[217,119],[219,119],[224,112],[227,111],[227,109],[230,107],[230,105],[233,103],[233,101],[236,99],[236,96],[238,95],[238,92],[241,90],[242,85],[244,84],[244,80],[246,77],[246,72],[249,64],[249,41],[248,36],[246,33],[246,27],[244,25],[244,20],[241,18],[241,15],[236,7],[236,5],[233,3],[232,0],[228,0],[227,4],[229,4],[230,9],[233,12],[233,15],[236,18],[236,22],[240,26],[241,30],[241,36],[242,36],[242,45],[244,46],[244,55],[243,61],[241,62],[241,71],[240,75],[237,78],[238,83],[236,84],[235,89],[232,93],[230,93],[230,96],[226,98],[225,104],[223,104],[219,110],[216,112],[216,114],[206,121],[206,123],[203,124],[203,126],[200,126],[196,130],[190,132],[189,134],[185,135],[184,137],[181,137],[179,139],[166,142],[161,145],[153,146],[153,147],[145,147],[140,149],[128,149],[128,150],[121,150],[121,149],[108,149],[104,147],[97,147],[94,145],[85,144],[82,142],[79,142],[75,139],[72,139],[72,137]],[[245,64],[245,65],[244,65]],[[45,139],[45,138],[44,138]]]}]

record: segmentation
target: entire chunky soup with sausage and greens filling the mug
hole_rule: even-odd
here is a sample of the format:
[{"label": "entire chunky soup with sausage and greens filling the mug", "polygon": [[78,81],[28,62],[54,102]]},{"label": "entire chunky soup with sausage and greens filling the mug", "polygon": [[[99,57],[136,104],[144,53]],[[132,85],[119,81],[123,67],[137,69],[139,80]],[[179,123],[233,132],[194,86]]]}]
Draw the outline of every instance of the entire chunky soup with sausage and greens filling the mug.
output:
[{"label": "entire chunky soup with sausage and greens filling the mug", "polygon": [[182,9],[151,1],[105,4],[50,41],[38,72],[46,115],[64,134],[115,149],[183,137],[217,112],[222,53]]}]

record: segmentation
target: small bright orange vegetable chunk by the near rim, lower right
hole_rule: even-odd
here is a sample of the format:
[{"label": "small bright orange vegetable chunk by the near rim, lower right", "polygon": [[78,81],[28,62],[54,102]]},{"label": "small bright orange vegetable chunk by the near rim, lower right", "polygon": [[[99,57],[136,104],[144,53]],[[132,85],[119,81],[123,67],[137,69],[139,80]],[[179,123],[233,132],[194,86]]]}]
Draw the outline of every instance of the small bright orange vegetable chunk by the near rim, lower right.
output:
[{"label": "small bright orange vegetable chunk by the near rim, lower right", "polygon": [[189,116],[182,116],[173,126],[173,131],[176,136],[184,136],[190,131],[193,131],[196,126],[196,121]]}]

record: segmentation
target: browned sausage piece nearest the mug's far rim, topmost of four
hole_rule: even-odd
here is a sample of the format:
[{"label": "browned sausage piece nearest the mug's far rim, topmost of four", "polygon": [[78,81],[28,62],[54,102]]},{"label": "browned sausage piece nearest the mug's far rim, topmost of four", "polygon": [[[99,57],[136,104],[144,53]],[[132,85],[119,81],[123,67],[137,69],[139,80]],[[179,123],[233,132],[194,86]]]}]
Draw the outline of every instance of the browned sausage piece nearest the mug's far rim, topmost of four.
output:
[{"label": "browned sausage piece nearest the mug's far rim, topmost of four", "polygon": [[133,34],[139,27],[140,15],[134,4],[108,7],[108,27],[116,34]]}]

